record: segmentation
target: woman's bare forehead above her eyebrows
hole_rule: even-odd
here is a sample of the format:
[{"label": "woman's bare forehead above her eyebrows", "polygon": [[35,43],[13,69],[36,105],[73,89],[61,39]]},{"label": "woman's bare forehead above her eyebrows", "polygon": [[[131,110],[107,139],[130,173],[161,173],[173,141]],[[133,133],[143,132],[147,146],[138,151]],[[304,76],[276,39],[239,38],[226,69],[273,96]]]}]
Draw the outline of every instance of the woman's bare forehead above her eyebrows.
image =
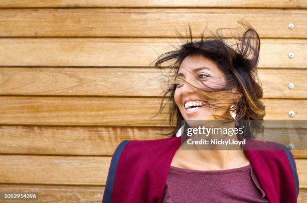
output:
[{"label": "woman's bare forehead above her eyebrows", "polygon": [[210,70],[206,69],[206,71],[211,71],[213,73],[220,74],[221,70],[218,69],[216,64],[208,58],[203,56],[187,56],[181,63],[179,67],[178,73],[187,73],[193,71],[196,68],[207,67]]}]

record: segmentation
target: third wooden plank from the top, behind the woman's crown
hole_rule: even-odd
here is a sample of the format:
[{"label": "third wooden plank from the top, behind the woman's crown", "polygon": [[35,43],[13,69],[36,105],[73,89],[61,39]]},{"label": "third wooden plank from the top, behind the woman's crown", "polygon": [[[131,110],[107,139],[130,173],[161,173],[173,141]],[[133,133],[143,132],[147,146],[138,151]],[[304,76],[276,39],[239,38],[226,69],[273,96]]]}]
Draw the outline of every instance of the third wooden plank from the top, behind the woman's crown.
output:
[{"label": "third wooden plank from the top, behind the woman's crown", "polygon": [[[154,66],[178,39],[0,39],[0,66]],[[306,68],[306,40],[261,40],[258,67]],[[288,57],[289,52],[294,58]],[[165,64],[169,65],[169,64]]]}]

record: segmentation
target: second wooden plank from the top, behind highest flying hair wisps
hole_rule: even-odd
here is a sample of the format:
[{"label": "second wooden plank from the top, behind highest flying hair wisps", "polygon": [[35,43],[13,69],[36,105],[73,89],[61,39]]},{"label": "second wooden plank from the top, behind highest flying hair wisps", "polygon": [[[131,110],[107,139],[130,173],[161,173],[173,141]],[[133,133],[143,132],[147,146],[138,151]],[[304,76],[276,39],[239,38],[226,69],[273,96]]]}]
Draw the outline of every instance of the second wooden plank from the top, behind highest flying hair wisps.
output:
[{"label": "second wooden plank from the top, behind highest flying hair wisps", "polygon": [[[237,22],[245,19],[261,38],[305,38],[306,14],[282,9],[5,9],[0,15],[0,36],[175,37],[175,28],[185,33],[188,24],[200,36],[207,23],[215,31],[239,27]],[[289,23],[294,29],[288,29]]]}]

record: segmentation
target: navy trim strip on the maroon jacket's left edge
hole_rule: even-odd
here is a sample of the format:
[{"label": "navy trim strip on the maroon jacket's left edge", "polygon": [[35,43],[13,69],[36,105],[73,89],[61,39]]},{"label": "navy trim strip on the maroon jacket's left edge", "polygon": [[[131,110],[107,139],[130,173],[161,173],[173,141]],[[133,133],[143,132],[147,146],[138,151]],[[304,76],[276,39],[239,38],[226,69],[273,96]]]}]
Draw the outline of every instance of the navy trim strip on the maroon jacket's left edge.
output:
[{"label": "navy trim strip on the maroon jacket's left edge", "polygon": [[121,155],[122,150],[125,148],[126,144],[129,141],[130,140],[122,141],[114,151],[114,154],[113,154],[112,160],[111,160],[111,164],[110,164],[110,168],[109,168],[108,177],[107,177],[105,188],[104,188],[102,203],[110,203],[111,202],[113,186],[114,186],[114,181],[115,181],[115,175],[116,175],[116,169],[117,169],[119,157]]}]

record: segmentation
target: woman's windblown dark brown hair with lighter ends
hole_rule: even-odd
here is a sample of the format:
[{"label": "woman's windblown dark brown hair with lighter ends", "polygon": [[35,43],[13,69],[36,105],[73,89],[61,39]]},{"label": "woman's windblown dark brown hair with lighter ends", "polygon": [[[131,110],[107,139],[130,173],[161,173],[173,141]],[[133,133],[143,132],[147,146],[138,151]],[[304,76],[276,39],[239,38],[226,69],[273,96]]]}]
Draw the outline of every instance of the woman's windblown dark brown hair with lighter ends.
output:
[{"label": "woman's windblown dark brown hair with lighter ends", "polygon": [[[178,84],[187,83],[193,88],[198,95],[206,101],[219,101],[221,103],[233,104],[234,107],[229,111],[236,112],[236,122],[243,120],[249,122],[252,120],[263,120],[265,116],[265,106],[260,101],[263,91],[261,85],[258,84],[259,79],[257,76],[257,64],[259,61],[260,52],[260,38],[257,32],[245,21],[241,20],[238,23],[245,28],[229,29],[221,28],[216,31],[216,34],[211,33],[211,37],[204,39],[204,33],[201,33],[200,40],[193,40],[191,27],[189,25],[190,35],[185,38],[178,31],[179,39],[182,40],[182,45],[176,48],[175,51],[170,51],[158,57],[155,67],[161,73],[162,70],[169,70],[167,76],[168,89],[163,92],[163,98],[160,105],[160,110],[157,114],[161,113],[165,105],[163,101],[169,97],[169,124],[172,125],[176,118],[176,127],[165,135],[175,136],[176,132],[181,127],[181,121],[184,120],[178,106],[175,103],[174,95]],[[240,31],[236,34],[227,37],[223,34],[224,31]],[[234,40],[234,42],[233,42]],[[202,83],[205,88],[197,88],[184,80],[175,80],[179,71],[182,61],[187,56],[203,56],[210,59],[216,66],[225,74],[227,85],[223,88],[213,88]],[[168,66],[162,66],[165,62],[174,62]],[[229,90],[236,88],[240,93],[232,93]],[[221,94],[223,93],[223,94]],[[230,95],[231,96],[228,96]],[[219,104],[221,104],[219,103]],[[220,106],[210,103],[210,108],[221,108]],[[229,106],[229,105],[228,105]],[[156,115],[157,115],[156,114]],[[155,115],[155,116],[156,116]],[[221,117],[214,115],[215,118]],[[217,118],[218,119],[218,118]],[[224,120],[229,118],[222,117]],[[263,129],[259,124],[249,122],[249,127],[245,128],[245,135],[253,137],[255,132],[263,133]]]}]

